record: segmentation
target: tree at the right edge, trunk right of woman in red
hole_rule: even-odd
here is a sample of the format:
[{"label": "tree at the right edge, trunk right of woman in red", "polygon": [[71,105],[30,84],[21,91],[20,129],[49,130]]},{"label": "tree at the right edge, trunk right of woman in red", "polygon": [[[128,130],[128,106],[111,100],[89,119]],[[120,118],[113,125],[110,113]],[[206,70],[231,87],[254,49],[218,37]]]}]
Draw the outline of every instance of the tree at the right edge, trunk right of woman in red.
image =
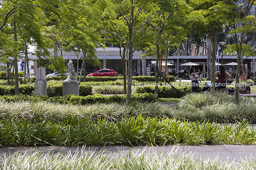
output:
[{"label": "tree at the right edge, trunk right of woman in red", "polygon": [[237,70],[235,79],[235,101],[239,104],[239,76],[243,62],[243,55],[246,57],[253,54],[250,47],[250,36],[248,33],[256,30],[256,18],[250,14],[250,9],[255,5],[256,0],[246,0],[244,3],[235,0],[228,1],[231,6],[231,20],[226,22],[225,28],[235,39],[235,45],[228,46],[229,51],[235,51],[237,56]]}]

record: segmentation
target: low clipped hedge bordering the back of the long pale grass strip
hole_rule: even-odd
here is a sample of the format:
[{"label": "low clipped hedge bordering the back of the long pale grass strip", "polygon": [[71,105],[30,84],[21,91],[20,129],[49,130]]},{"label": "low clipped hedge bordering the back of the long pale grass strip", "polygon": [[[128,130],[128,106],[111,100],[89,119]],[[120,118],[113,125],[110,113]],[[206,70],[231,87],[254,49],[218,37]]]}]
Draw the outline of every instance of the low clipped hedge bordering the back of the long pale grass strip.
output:
[{"label": "low clipped hedge bordering the back of the long pale grass strip", "polygon": [[[2,95],[0,96],[0,100],[6,100],[8,102],[11,101],[47,101],[59,104],[95,104],[95,103],[125,103],[126,102],[126,94],[125,95],[103,95],[103,94],[95,94],[95,95],[87,95],[87,96],[78,96],[78,95],[66,95],[66,96],[53,96],[48,97],[44,95],[32,96],[32,95]],[[131,101],[141,101],[141,102],[156,102],[157,98],[155,94],[131,94]]]}]

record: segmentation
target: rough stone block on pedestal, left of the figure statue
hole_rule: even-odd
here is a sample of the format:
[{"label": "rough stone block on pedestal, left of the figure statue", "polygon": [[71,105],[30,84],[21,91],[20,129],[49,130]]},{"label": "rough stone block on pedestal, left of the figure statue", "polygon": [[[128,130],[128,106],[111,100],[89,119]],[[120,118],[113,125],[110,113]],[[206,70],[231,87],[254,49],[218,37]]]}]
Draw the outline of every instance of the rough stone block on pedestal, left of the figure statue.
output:
[{"label": "rough stone block on pedestal, left of the figure statue", "polygon": [[36,69],[35,80],[35,96],[47,95],[47,81],[45,80],[45,68],[39,67]]}]

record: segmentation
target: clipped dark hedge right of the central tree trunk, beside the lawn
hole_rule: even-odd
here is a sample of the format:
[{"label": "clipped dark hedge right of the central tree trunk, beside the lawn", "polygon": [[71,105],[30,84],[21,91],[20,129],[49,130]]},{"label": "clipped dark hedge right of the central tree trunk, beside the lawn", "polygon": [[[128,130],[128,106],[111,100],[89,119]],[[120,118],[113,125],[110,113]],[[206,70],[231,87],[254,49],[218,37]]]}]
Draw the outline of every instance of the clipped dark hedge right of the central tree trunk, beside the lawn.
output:
[{"label": "clipped dark hedge right of the central tree trunk, beside the lawn", "polygon": [[[184,86],[179,87],[175,86],[175,88],[181,93],[181,95],[185,95],[185,88],[187,93],[192,93],[192,86]],[[158,97],[162,98],[180,98],[181,96],[177,94],[177,92],[171,86],[158,86]],[[203,91],[203,86],[199,87],[199,92]],[[154,85],[145,85],[145,86],[137,86],[136,93],[154,93],[155,86]]]}]

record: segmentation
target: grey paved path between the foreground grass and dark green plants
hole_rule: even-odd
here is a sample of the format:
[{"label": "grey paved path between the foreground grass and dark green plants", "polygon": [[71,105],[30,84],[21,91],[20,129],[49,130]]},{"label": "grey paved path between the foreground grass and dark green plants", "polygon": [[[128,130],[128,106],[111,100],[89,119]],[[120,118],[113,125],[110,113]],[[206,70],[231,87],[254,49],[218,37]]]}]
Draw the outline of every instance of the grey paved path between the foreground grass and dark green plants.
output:
[{"label": "grey paved path between the foreground grass and dark green plants", "polygon": [[[67,152],[75,153],[81,151],[82,146],[79,147],[62,147],[62,146],[44,146],[38,148],[32,147],[0,147],[0,157],[4,154],[13,154],[15,152],[25,153],[28,151],[42,151],[43,153],[61,153],[65,154]],[[156,152],[158,154],[163,153],[163,155],[168,154],[171,151],[177,151],[176,153],[181,154],[194,154],[194,158],[203,158],[215,160],[218,158],[219,161],[228,161],[228,162],[239,162],[241,159],[256,158],[256,145],[170,145],[170,146],[87,146],[85,147],[86,152],[90,151],[103,151],[103,153],[108,152],[109,155],[126,156],[129,151],[131,153],[140,153],[145,151],[145,153]]]}]

